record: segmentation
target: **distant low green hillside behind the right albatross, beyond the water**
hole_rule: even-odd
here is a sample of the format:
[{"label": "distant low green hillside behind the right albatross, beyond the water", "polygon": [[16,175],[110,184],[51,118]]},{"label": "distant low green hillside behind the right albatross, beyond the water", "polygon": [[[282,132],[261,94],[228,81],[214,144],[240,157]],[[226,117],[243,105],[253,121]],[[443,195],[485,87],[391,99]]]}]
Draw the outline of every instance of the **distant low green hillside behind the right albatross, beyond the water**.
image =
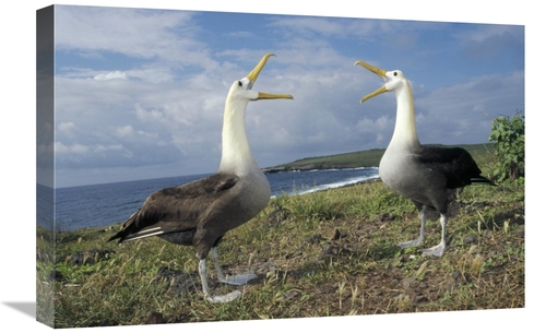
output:
[{"label": "distant low green hillside behind the right albatross, beyond the water", "polygon": [[[446,146],[449,145],[435,145]],[[492,158],[492,143],[483,144],[463,144],[456,145],[467,150],[473,157],[480,164],[486,163]],[[320,169],[320,168],[355,168],[355,167],[372,167],[379,166],[383,150],[369,150],[346,154],[336,154],[330,156],[308,157],[294,160],[292,163],[282,164],[269,168],[264,168],[264,173],[287,171],[287,170],[305,170],[305,169]]]}]

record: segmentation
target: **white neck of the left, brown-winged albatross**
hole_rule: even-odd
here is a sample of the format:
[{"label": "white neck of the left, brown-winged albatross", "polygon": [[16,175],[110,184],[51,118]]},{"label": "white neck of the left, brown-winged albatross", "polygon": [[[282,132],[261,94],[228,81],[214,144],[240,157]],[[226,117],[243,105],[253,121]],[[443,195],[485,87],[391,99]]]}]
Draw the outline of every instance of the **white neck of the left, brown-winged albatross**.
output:
[{"label": "white neck of the left, brown-winged albatross", "polygon": [[245,128],[245,111],[249,100],[228,99],[222,129],[222,162],[218,171],[245,175],[259,170],[252,157]]}]

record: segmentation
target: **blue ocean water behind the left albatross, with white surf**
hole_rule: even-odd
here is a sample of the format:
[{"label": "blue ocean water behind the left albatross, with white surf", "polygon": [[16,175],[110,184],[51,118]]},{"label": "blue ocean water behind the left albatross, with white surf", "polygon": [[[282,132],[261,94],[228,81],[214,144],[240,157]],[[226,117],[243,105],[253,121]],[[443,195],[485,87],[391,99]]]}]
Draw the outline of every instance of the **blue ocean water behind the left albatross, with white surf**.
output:
[{"label": "blue ocean water behind the left albatross, with white surf", "polygon": [[[67,231],[107,227],[126,221],[154,191],[183,185],[206,175],[169,177],[55,189],[37,186],[37,221],[47,229]],[[266,174],[272,198],[302,195],[379,177],[378,168],[317,169]],[[52,218],[55,216],[55,218]]]}]

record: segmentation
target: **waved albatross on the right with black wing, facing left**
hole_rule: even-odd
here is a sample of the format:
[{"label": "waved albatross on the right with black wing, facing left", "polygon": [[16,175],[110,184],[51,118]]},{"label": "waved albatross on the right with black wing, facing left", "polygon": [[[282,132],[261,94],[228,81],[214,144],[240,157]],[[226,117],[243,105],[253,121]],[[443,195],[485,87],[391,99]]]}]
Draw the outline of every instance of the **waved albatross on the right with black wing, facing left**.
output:
[{"label": "waved albatross on the right with black wing, facing left", "polygon": [[379,163],[381,180],[396,193],[412,200],[419,211],[420,234],[415,240],[399,243],[401,248],[416,246],[425,240],[425,209],[440,213],[442,228],[441,241],[436,247],[422,250],[424,255],[441,257],[446,250],[446,225],[448,206],[455,192],[468,185],[494,185],[483,177],[467,151],[460,147],[423,146],[415,129],[415,109],[410,81],[402,71],[385,71],[364,61],[356,61],[365,69],[376,73],[385,84],[360,103],[382,94],[394,92],[396,95],[396,122],[394,133]]}]

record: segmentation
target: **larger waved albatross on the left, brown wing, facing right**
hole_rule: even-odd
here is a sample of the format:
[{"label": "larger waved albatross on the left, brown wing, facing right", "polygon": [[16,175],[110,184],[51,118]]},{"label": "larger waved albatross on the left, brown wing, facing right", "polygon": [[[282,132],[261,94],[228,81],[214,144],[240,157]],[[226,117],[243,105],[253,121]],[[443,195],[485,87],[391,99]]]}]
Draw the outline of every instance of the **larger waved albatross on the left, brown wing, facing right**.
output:
[{"label": "larger waved albatross on the left, brown wing, facing right", "polygon": [[216,247],[228,230],[254,217],[270,201],[270,185],[248,144],[245,112],[250,100],[293,99],[292,95],[251,90],[271,56],[274,55],[263,56],[247,76],[235,81],[229,88],[224,110],[218,171],[187,185],[153,192],[142,207],[123,223],[122,229],[109,239],[119,238],[119,242],[123,242],[158,236],[177,245],[193,246],[199,260],[203,294],[212,302],[232,301],[240,292],[214,297],[211,295],[206,278],[209,252],[219,282],[242,285],[257,277],[254,274],[225,277],[218,263]]}]

